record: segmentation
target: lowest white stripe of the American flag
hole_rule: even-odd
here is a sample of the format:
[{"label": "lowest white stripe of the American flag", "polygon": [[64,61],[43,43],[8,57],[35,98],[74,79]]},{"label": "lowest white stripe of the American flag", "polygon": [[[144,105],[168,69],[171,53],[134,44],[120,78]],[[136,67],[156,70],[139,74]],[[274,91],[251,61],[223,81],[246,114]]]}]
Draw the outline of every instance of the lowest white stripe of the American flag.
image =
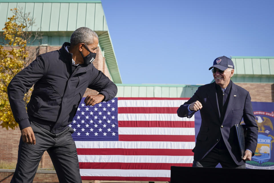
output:
[{"label": "lowest white stripe of the American flag", "polygon": [[80,169],[80,175],[96,177],[170,177],[170,170]]}]

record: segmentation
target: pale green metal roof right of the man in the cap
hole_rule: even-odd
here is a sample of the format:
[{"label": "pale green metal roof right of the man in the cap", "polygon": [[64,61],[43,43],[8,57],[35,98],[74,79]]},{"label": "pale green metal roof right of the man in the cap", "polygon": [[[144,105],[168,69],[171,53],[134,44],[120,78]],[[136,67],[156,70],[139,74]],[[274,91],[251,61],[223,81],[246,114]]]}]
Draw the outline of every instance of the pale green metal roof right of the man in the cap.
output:
[{"label": "pale green metal roof right of the man in the cap", "polygon": [[232,56],[233,82],[274,83],[274,57]]}]

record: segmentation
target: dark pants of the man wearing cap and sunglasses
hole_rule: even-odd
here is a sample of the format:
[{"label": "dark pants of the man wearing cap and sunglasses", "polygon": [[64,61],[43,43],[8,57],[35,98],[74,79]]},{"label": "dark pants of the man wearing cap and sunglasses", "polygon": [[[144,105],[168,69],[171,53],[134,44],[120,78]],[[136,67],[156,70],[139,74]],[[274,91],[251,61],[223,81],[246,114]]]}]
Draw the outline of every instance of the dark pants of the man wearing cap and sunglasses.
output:
[{"label": "dark pants of the man wearing cap and sunglasses", "polygon": [[223,168],[245,168],[245,164],[237,165],[231,158],[228,150],[214,147],[202,160],[193,161],[193,167],[216,167],[221,164]]}]

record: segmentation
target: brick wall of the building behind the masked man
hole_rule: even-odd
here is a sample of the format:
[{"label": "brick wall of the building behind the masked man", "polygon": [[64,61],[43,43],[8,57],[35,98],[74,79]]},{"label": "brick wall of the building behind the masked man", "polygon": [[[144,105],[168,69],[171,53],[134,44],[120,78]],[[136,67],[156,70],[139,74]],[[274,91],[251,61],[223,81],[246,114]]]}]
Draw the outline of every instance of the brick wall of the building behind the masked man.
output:
[{"label": "brick wall of the building behind the masked man", "polygon": [[[39,54],[46,53],[49,51],[54,51],[60,49],[59,46],[40,46],[37,55],[35,55],[34,51],[37,47],[30,47],[30,50],[33,52],[33,59]],[[100,48],[97,49],[96,59],[93,62],[94,66],[98,70],[102,70],[102,72],[110,78],[110,74],[108,72],[105,58],[102,55]],[[97,91],[87,89],[84,97],[86,95],[96,95]],[[4,128],[0,128],[0,163],[3,166],[9,166],[9,168],[15,168],[18,156],[18,144],[21,136],[21,132],[19,128],[15,130],[6,130]],[[41,162],[39,164],[40,168],[53,169],[53,164],[47,152],[42,156]],[[0,179],[1,181],[1,179]]]}]

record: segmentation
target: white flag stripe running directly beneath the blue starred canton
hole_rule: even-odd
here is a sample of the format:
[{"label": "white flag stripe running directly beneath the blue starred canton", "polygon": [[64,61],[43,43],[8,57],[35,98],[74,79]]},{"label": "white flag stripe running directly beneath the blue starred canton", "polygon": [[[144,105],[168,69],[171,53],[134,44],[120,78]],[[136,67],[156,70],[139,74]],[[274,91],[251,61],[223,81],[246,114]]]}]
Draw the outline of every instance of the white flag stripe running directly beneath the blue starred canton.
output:
[{"label": "white flag stripe running directly beneath the blue starred canton", "polygon": [[193,149],[195,142],[75,141],[76,148]]}]

